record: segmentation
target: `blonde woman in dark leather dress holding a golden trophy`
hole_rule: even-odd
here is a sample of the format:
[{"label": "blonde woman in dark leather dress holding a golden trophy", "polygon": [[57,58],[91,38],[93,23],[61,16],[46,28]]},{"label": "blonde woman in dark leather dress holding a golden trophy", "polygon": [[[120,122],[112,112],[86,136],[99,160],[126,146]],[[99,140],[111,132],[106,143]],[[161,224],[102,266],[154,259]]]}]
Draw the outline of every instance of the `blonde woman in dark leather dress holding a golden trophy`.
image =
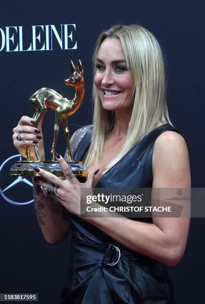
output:
[{"label": "blonde woman in dark leather dress holding a golden trophy", "polygon": [[[34,198],[45,239],[58,243],[72,233],[62,303],[174,303],[166,265],[183,256],[188,218],[83,218],[79,212],[79,188],[191,187],[187,146],[167,111],[161,49],[145,28],[118,25],[100,34],[93,63],[93,126],[71,138],[74,158],[88,166],[87,181],[78,182],[58,153],[65,180],[35,168],[42,176]],[[13,131],[24,154],[37,132],[31,118],[22,117]],[[20,132],[23,143],[15,138]],[[43,195],[39,186],[50,184],[61,198]]]}]

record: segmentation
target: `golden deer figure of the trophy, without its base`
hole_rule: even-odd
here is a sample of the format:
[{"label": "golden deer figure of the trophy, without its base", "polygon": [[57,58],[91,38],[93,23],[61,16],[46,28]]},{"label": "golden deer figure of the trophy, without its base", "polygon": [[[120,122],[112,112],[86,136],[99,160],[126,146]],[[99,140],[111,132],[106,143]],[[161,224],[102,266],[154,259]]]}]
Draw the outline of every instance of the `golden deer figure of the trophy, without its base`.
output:
[{"label": "golden deer figure of the trophy, without its base", "polygon": [[[53,145],[51,149],[51,159],[55,161],[55,151],[56,151],[56,141],[59,133],[59,125],[62,121],[64,133],[66,137],[66,143],[68,147],[68,159],[73,161],[72,153],[70,150],[69,144],[69,130],[67,124],[67,116],[72,115],[81,105],[82,99],[84,97],[84,78],[83,78],[83,68],[81,61],[78,60],[77,68],[74,66],[73,62],[70,63],[70,70],[72,72],[72,76],[65,80],[66,85],[71,85],[75,87],[75,95],[74,98],[69,100],[68,98],[64,98],[62,95],[54,91],[50,88],[41,88],[37,90],[29,100],[32,101],[35,105],[35,114],[33,116],[33,120],[35,121],[35,127],[38,126],[38,123],[47,111],[47,108],[51,108],[56,112],[55,117],[55,127],[54,127],[54,139]],[[35,155],[40,161],[39,151],[37,145],[35,146]],[[30,152],[29,147],[26,149],[27,160],[30,161]]]}]

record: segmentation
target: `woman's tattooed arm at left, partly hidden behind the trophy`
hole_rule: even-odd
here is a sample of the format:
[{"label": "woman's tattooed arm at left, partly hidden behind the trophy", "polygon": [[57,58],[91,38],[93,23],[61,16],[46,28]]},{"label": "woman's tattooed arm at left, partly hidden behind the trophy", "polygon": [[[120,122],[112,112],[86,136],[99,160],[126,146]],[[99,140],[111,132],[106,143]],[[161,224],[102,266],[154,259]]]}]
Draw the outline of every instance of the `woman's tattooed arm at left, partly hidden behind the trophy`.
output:
[{"label": "woman's tattooed arm at left, partly hidden behind the trophy", "polygon": [[[79,142],[87,132],[89,126],[76,130],[70,139],[70,149],[72,153],[77,148]],[[68,160],[68,153],[65,153],[65,159]],[[39,181],[37,183],[35,180]],[[40,185],[46,185],[41,177],[33,178],[33,196],[34,207],[37,220],[42,230],[44,238],[50,244],[61,242],[70,231],[70,223],[68,221],[68,211],[57,200],[55,195],[45,196],[40,189]],[[50,187],[50,185],[48,184]]]}]

